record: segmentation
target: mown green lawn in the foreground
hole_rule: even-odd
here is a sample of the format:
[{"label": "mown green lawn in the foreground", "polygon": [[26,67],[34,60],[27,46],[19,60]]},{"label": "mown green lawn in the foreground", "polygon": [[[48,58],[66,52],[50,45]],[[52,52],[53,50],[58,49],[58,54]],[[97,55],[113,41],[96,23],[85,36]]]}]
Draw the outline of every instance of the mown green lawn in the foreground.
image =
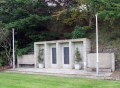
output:
[{"label": "mown green lawn in the foreground", "polygon": [[0,72],[0,88],[120,88],[120,81]]}]

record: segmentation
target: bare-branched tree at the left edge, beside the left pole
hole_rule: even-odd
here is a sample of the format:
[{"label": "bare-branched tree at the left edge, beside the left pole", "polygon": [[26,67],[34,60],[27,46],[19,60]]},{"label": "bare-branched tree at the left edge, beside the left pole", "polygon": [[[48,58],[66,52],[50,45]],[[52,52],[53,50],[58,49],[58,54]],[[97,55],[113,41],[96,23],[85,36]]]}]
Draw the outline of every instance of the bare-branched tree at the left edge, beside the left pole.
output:
[{"label": "bare-branched tree at the left edge, beside the left pole", "polygon": [[[9,30],[0,28],[0,64],[6,64],[7,62],[11,65],[12,61],[12,38]],[[4,56],[5,55],[5,56]],[[7,59],[6,59],[7,58]]]}]

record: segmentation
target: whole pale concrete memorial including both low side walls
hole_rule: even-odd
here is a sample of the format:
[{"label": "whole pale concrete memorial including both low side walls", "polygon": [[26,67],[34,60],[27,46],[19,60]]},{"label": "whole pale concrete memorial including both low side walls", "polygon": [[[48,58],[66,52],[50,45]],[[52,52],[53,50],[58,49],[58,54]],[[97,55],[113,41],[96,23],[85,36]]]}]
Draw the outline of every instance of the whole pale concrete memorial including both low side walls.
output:
[{"label": "whole pale concrete memorial including both low side walls", "polygon": [[[82,58],[82,70],[92,71],[96,68],[96,53],[90,53],[91,41],[87,38],[54,40],[34,43],[34,54],[18,56],[18,67],[38,68],[39,50],[43,50],[44,68],[74,69],[75,51],[78,48]],[[99,53],[99,70],[114,71],[114,53]]]}]

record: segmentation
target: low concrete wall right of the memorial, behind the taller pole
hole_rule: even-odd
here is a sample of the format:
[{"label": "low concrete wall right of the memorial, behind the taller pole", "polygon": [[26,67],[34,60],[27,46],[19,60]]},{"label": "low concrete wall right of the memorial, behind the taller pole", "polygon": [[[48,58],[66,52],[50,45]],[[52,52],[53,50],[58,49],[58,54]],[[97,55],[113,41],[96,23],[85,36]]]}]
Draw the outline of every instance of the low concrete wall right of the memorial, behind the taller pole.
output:
[{"label": "low concrete wall right of the memorial, behind the taller pole", "polygon": [[[99,68],[115,70],[115,55],[114,53],[99,53]],[[96,68],[96,53],[89,53],[87,55],[87,67]]]}]

